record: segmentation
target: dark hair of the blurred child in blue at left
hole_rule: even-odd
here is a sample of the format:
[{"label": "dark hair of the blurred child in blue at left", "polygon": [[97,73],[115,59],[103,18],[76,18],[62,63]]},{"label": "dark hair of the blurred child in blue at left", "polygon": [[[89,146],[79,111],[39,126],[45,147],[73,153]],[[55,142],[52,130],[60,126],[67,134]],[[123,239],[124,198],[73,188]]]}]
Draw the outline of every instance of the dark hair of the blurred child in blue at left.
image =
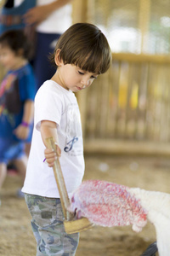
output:
[{"label": "dark hair of the blurred child in blue at left", "polygon": [[26,59],[31,58],[31,44],[22,30],[9,30],[3,32],[0,36],[0,44],[4,47],[8,47],[16,55],[20,53],[22,49],[22,55]]}]

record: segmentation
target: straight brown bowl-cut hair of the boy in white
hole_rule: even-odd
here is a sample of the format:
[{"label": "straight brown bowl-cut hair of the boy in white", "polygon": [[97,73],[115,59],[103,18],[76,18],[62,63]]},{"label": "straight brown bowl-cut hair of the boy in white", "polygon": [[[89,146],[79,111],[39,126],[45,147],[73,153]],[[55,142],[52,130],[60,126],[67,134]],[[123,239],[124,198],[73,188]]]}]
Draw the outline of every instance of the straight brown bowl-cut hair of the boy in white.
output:
[{"label": "straight brown bowl-cut hair of the boy in white", "polygon": [[97,26],[89,23],[76,23],[67,29],[56,44],[55,52],[64,64],[74,64],[91,73],[105,73],[111,65],[111,49],[105,35]]}]

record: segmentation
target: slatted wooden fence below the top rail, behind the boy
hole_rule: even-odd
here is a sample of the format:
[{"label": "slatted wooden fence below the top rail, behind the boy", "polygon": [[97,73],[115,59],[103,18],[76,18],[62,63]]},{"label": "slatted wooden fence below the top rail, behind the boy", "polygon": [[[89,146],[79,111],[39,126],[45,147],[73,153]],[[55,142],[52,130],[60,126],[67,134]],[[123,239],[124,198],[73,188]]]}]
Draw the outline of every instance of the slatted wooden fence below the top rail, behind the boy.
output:
[{"label": "slatted wooden fence below the top rail, behind the boy", "polygon": [[77,98],[85,151],[170,154],[170,57],[113,54]]}]

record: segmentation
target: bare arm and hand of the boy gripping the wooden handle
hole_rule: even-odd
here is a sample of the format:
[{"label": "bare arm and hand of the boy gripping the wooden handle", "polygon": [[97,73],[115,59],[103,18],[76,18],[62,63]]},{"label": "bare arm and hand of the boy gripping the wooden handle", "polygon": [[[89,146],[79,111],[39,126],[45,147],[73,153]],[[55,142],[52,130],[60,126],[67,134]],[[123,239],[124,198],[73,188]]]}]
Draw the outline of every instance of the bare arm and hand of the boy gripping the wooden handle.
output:
[{"label": "bare arm and hand of the boy gripping the wooden handle", "polygon": [[[61,154],[61,150],[59,148],[58,135],[57,135],[57,125],[56,123],[48,120],[42,120],[40,131],[42,135],[42,142],[44,143],[46,149],[44,151],[46,161],[49,167],[54,166],[54,160],[56,157],[59,157]],[[46,139],[48,137],[54,138],[54,143],[56,145],[56,153],[51,149],[48,149],[48,145]]]}]

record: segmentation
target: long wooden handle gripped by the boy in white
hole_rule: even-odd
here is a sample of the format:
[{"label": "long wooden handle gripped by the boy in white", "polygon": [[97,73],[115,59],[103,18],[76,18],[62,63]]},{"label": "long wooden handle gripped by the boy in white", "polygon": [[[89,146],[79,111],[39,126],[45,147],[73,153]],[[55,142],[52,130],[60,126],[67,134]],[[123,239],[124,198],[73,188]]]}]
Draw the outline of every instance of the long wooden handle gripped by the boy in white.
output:
[{"label": "long wooden handle gripped by the boy in white", "polygon": [[[56,152],[54,138],[48,137],[46,139],[46,142],[48,144],[48,148],[53,149],[54,152]],[[70,200],[69,200],[69,196],[68,196],[68,193],[66,190],[65,180],[63,177],[60,163],[59,163],[59,158],[57,158],[57,160],[54,161],[53,170],[54,170],[55,181],[56,181],[57,187],[59,189],[59,196],[60,196],[60,201],[61,201],[61,206],[62,206],[64,217],[66,220],[71,220],[74,217],[74,214],[71,212],[68,212],[66,210],[70,206]]]}]

